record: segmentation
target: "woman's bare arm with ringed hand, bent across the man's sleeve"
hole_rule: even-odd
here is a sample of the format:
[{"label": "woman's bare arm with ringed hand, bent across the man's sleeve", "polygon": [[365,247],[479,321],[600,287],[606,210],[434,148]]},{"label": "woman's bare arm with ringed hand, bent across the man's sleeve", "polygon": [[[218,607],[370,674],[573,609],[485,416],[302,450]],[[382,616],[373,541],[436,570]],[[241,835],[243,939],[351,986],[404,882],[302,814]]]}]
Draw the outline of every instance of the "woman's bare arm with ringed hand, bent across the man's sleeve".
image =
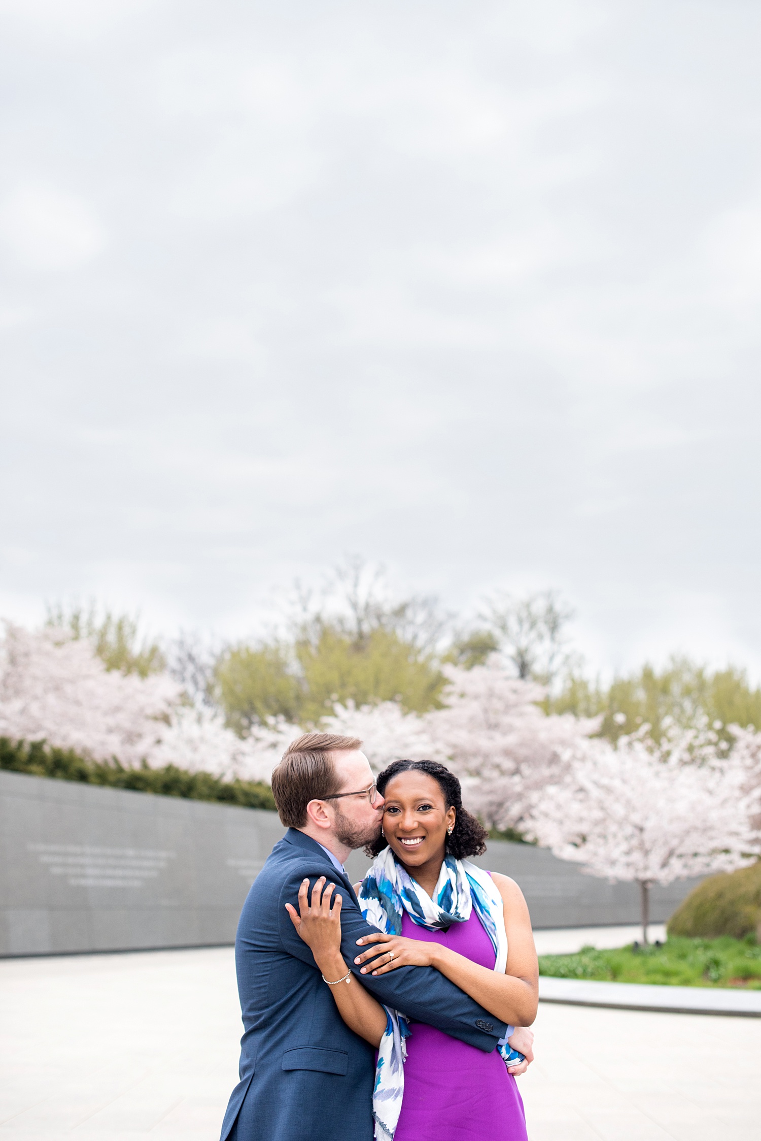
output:
[{"label": "woman's bare arm with ringed hand, bent across the man's sleeve", "polygon": [[[358,955],[354,962],[365,963],[362,973],[373,974],[385,974],[396,966],[435,966],[494,1018],[513,1026],[531,1026],[537,1017],[539,1002],[539,966],[529,908],[514,880],[498,873],[492,879],[505,905],[508,948],[505,974],[478,966],[441,944],[400,936],[365,936],[358,944],[371,942],[374,946]],[[388,958],[390,953],[393,958]],[[373,964],[370,960],[375,956],[379,957]]]}]

